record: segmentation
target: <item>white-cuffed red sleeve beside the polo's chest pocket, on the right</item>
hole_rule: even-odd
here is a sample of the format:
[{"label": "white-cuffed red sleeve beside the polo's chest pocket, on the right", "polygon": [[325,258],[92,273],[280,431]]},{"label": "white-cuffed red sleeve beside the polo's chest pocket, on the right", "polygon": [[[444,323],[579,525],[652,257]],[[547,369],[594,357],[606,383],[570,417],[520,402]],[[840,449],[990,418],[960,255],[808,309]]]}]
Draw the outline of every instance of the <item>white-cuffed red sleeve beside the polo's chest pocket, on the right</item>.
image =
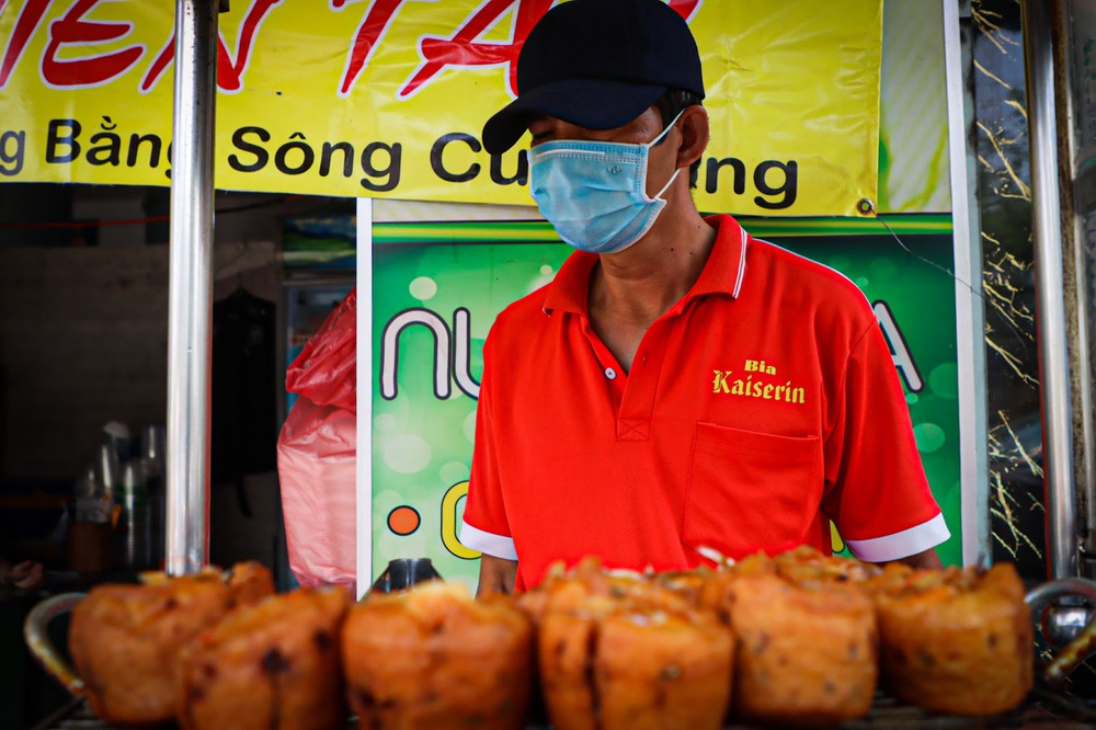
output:
[{"label": "white-cuffed red sleeve beside the polo's chest pocket, on the right", "polygon": [[853,555],[897,560],[948,539],[890,347],[875,321],[853,346],[832,397],[822,507]]}]

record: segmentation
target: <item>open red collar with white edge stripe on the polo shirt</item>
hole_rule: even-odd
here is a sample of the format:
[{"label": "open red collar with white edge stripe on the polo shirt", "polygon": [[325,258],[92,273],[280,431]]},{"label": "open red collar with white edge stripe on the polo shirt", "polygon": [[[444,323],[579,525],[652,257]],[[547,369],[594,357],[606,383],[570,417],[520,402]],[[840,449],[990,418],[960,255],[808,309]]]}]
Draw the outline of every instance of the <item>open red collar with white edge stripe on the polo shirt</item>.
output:
[{"label": "open red collar with white edge stripe on the polo shirt", "polygon": [[[742,288],[750,235],[728,215],[708,216],[705,220],[716,227],[716,242],[693,288],[673,309],[681,309],[694,297],[705,294],[727,294],[737,298]],[[545,313],[559,310],[585,315],[590,274],[596,263],[596,253],[575,251],[568,256],[548,285],[543,305]]]}]

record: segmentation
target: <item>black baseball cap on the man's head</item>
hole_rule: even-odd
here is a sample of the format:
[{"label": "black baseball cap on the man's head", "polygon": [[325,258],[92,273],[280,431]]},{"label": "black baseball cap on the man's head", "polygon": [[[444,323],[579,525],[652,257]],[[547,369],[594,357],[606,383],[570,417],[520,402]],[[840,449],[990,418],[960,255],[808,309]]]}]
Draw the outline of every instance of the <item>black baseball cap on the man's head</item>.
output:
[{"label": "black baseball cap on the man's head", "polygon": [[517,58],[517,99],[483,125],[492,155],[514,146],[533,118],[612,129],[666,91],[704,99],[700,53],[685,20],[662,0],[570,0],[529,31]]}]

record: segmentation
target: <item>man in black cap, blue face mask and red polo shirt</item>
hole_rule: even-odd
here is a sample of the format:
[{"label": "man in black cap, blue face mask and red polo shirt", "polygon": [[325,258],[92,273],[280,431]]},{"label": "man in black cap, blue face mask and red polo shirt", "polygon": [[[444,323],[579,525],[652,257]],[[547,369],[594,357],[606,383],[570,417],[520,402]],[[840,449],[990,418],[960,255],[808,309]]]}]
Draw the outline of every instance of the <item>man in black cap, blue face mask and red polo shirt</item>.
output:
[{"label": "man in black cap, blue face mask and red polo shirt", "polygon": [[705,219],[688,25],[660,0],[572,0],[533,28],[483,145],[532,133],[530,192],[579,251],[483,351],[461,541],[480,592],[587,555],[684,569],[830,550],[939,566],[949,537],[890,351],[836,272]]}]

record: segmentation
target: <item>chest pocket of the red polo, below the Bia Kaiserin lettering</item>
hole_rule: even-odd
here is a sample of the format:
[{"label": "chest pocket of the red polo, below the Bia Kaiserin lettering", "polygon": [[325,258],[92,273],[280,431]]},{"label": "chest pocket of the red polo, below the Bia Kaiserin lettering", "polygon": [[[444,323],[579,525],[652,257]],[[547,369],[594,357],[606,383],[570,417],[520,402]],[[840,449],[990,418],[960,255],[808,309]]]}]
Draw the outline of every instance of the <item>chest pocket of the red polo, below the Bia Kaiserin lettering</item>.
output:
[{"label": "chest pocket of the red polo, below the Bia Kaiserin lettering", "polygon": [[803,543],[822,498],[819,445],[697,423],[682,541],[735,559]]}]

